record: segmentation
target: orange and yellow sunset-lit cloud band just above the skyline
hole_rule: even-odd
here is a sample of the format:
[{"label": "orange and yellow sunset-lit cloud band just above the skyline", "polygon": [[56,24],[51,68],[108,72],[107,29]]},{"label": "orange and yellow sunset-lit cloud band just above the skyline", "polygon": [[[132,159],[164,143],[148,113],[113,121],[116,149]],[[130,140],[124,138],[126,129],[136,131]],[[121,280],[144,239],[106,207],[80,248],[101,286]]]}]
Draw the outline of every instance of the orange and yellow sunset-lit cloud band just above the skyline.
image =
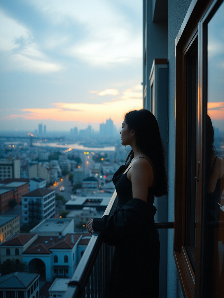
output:
[{"label": "orange and yellow sunset-lit cloud band just above the skyline", "polygon": [[[105,90],[98,94],[119,94],[118,90]],[[52,103],[52,108],[25,108],[21,114],[11,114],[7,118],[23,118],[27,120],[79,121],[99,123],[110,117],[119,124],[123,115],[134,108],[142,108],[142,88],[136,86],[119,94],[118,98],[104,103]]]}]

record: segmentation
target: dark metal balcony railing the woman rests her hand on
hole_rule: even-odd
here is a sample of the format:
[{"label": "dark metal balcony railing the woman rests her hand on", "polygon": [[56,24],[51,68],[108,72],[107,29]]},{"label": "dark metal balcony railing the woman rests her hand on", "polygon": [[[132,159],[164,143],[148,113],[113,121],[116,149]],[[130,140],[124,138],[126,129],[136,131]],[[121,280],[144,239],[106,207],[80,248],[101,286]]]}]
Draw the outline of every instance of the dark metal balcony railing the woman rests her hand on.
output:
[{"label": "dark metal balcony railing the woman rests her hand on", "polygon": [[[112,215],[117,204],[116,191],[108,204],[104,215]],[[172,229],[173,222],[158,222],[157,229]],[[104,298],[107,296],[107,285],[114,247],[103,242],[98,231],[93,235],[71,278],[64,298]]]}]

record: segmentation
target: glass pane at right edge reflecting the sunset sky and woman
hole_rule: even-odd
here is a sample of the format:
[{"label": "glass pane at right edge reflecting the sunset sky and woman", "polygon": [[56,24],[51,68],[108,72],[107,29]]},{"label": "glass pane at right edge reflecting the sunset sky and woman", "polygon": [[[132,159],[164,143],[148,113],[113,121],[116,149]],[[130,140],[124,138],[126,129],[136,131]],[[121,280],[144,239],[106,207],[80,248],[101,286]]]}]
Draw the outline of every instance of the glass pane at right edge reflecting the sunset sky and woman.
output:
[{"label": "glass pane at right edge reflecting the sunset sky and woman", "polygon": [[206,166],[208,297],[224,297],[224,3],[208,23],[208,115]]}]

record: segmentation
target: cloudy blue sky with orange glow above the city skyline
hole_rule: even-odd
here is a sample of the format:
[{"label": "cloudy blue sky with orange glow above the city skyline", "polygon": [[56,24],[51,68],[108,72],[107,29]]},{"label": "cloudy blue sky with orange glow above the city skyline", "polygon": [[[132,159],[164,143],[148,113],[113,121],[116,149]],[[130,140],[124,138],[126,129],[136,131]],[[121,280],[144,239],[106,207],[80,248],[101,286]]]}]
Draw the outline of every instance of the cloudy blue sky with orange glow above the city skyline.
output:
[{"label": "cloudy blue sky with orange glow above the city skyline", "polygon": [[142,1],[1,0],[0,131],[69,131],[142,108]]}]

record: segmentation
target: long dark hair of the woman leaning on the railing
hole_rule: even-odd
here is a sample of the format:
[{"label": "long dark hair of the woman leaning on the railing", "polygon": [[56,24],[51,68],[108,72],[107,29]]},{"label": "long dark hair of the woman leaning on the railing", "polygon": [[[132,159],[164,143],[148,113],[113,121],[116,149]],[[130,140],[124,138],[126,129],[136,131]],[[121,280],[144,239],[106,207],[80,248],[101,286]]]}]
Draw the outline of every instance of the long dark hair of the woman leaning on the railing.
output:
[{"label": "long dark hair of the woman leaning on the railing", "polygon": [[[136,149],[148,156],[155,170],[155,196],[161,197],[168,193],[167,173],[165,169],[165,150],[159,132],[156,117],[146,109],[133,110],[125,114],[128,129],[134,129]],[[125,164],[128,166],[134,157],[130,151]]]}]

